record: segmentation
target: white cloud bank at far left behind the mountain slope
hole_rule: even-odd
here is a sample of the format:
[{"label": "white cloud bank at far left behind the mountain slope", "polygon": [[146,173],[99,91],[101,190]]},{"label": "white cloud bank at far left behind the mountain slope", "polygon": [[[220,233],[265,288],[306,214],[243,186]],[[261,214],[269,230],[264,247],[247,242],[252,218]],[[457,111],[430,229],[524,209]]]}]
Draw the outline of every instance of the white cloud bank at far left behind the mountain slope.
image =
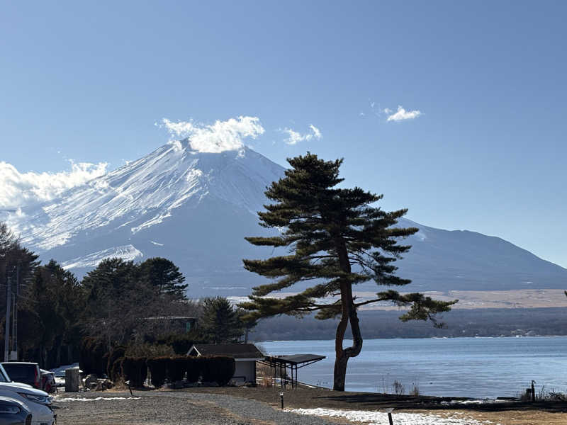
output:
[{"label": "white cloud bank at far left behind the mountain slope", "polygon": [[80,186],[106,173],[108,164],[71,162],[71,171],[21,173],[12,164],[0,162],[0,208],[21,208],[57,198],[63,191]]}]

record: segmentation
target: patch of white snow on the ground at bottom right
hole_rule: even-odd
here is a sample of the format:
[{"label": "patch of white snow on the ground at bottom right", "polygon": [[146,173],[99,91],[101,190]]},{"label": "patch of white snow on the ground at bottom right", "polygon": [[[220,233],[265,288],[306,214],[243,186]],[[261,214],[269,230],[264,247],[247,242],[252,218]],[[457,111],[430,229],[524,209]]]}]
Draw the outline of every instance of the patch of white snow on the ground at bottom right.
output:
[{"label": "patch of white snow on the ground at bottom right", "polygon": [[[363,422],[369,425],[388,425],[388,414],[364,410],[337,410],[337,409],[288,409],[288,412],[298,414],[312,414],[315,416],[343,417],[349,421]],[[456,412],[447,417],[436,414],[422,413],[395,413],[392,414],[395,425],[500,425],[490,421],[477,421]]]}]

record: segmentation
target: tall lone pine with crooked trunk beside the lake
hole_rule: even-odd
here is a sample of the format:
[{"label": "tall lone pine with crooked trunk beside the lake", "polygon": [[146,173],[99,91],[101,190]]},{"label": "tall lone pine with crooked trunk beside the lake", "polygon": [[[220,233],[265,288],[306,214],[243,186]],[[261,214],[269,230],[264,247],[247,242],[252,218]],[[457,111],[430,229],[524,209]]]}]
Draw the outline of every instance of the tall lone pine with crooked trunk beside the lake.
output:
[{"label": "tall lone pine with crooked trunk beside the lake", "polygon": [[[247,237],[260,246],[286,246],[289,255],[266,260],[244,260],[248,271],[271,278],[273,283],[254,288],[249,302],[240,307],[250,317],[290,314],[301,317],[317,311],[318,319],[340,317],[335,337],[334,390],[344,390],[349,358],[359,355],[362,336],[357,309],[372,302],[391,301],[409,306],[400,319],[435,322],[434,314],[451,309],[452,302],[441,302],[420,293],[402,295],[395,290],[379,292],[371,300],[357,302],[352,286],[369,280],[378,285],[403,286],[410,280],[395,276],[393,262],[410,249],[398,244],[400,238],[418,231],[415,227],[395,227],[407,210],[386,212],[371,206],[382,196],[361,188],[337,188],[342,159],[325,162],[315,154],[288,159],[291,169],[271,183],[266,196],[273,203],[259,212],[262,227],[281,230],[280,236]],[[266,297],[274,291],[300,282],[313,282],[297,295]],[[336,296],[336,297],[335,297]],[[325,298],[335,297],[327,302]],[[435,322],[437,324],[437,322]],[[343,348],[350,325],[352,346]],[[439,324],[437,324],[439,325]],[[439,325],[440,326],[440,325]]]}]

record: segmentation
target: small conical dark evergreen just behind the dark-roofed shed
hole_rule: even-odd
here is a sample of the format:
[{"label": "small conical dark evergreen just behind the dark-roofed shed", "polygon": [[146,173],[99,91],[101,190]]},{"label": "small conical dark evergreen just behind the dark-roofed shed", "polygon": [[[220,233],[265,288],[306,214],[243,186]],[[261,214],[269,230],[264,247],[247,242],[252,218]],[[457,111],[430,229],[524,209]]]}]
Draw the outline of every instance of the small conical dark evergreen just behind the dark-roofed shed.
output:
[{"label": "small conical dark evergreen just behind the dark-roofed shed", "polygon": [[203,338],[213,344],[235,342],[245,333],[239,314],[225,297],[203,300],[203,317],[199,323]]}]

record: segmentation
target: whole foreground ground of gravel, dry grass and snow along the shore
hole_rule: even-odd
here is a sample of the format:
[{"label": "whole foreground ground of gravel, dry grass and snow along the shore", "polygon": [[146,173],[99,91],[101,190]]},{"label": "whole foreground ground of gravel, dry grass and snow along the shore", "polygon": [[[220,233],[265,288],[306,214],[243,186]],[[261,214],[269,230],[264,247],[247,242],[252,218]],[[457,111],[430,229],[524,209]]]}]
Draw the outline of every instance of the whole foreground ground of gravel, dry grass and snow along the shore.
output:
[{"label": "whole foreground ground of gravel, dry grass and snow along the shore", "polygon": [[[329,410],[327,415],[293,414],[279,409],[279,388],[198,387],[190,390],[75,392],[56,397],[59,425],[387,425],[386,407],[396,407],[400,425],[565,425],[567,404],[468,404],[428,406],[433,397],[337,393],[298,388],[284,393],[286,409]],[[333,411],[335,409],[335,411]],[[374,414],[372,414],[374,412]],[[305,412],[308,413],[308,412]],[[350,419],[350,420],[349,420]]]}]

